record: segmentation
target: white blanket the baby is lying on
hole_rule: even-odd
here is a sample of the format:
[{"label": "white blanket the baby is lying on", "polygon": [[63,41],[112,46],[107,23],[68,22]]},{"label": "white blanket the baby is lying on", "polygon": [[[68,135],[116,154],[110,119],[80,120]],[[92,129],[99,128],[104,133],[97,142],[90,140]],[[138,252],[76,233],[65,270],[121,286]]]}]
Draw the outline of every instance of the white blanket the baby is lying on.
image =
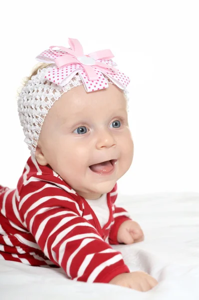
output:
[{"label": "white blanket the baby is lying on", "polygon": [[144,270],[159,284],[140,292],[105,283],[74,282],[61,268],[0,260],[0,300],[199,299],[199,193],[121,196],[145,233],[145,240],[116,245],[133,270]]}]

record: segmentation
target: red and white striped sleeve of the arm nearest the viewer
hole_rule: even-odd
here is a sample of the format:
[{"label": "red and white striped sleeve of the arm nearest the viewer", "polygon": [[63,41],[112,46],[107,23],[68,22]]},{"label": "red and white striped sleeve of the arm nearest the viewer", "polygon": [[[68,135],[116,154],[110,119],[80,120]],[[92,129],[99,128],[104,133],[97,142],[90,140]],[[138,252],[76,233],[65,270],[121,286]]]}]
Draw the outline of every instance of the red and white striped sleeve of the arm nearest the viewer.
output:
[{"label": "red and white striped sleeve of the arm nearest the viewer", "polygon": [[20,217],[44,254],[73,280],[109,282],[129,272],[121,252],[112,249],[84,217],[70,192],[43,180],[20,190]]}]

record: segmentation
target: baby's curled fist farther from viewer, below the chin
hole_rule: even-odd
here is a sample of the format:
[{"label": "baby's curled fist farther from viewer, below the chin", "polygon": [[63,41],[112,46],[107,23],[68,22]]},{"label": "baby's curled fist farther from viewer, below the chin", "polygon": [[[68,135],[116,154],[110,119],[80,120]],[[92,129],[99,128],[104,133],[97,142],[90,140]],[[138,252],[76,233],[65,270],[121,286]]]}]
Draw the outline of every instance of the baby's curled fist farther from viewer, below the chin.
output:
[{"label": "baby's curled fist farther from viewer, below the chin", "polygon": [[126,220],[119,227],[117,240],[119,243],[131,244],[144,240],[144,233],[137,222]]}]

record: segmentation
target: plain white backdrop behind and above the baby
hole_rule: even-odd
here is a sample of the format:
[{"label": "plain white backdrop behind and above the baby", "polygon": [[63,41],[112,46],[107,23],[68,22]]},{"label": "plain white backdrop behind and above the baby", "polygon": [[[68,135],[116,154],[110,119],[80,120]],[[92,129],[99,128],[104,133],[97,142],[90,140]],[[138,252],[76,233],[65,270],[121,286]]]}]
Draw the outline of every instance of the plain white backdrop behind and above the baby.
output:
[{"label": "plain white backdrop behind and above the baby", "polygon": [[110,48],[131,78],[135,152],[123,194],[199,191],[199,1],[3,1],[0,17],[0,184],[15,187],[29,156],[16,90],[51,45]]}]

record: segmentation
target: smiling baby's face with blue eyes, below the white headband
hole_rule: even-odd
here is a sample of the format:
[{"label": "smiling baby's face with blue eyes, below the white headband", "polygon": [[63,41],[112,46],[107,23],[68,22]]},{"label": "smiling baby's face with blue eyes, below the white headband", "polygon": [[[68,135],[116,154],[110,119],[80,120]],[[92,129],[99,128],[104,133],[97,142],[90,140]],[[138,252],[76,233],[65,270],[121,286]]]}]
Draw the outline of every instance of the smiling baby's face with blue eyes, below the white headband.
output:
[{"label": "smiling baby's face with blue eyes, below the white headband", "polygon": [[[109,84],[94,92],[88,93],[80,85],[64,93],[45,117],[35,156],[87,199],[111,191],[133,159],[123,91]],[[116,164],[110,172],[89,167],[112,159]]]}]

